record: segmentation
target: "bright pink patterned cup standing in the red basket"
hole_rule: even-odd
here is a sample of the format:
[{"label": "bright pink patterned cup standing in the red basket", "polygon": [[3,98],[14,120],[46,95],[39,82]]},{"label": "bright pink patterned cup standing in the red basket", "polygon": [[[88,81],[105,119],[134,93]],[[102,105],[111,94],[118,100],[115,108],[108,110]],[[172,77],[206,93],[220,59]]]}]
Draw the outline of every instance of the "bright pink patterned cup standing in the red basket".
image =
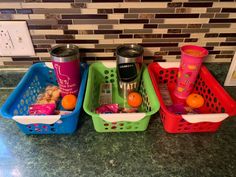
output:
[{"label": "bright pink patterned cup standing in the red basket", "polygon": [[185,45],[181,47],[181,62],[174,90],[174,95],[177,98],[186,99],[192,92],[201,64],[207,55],[208,51],[199,46]]}]

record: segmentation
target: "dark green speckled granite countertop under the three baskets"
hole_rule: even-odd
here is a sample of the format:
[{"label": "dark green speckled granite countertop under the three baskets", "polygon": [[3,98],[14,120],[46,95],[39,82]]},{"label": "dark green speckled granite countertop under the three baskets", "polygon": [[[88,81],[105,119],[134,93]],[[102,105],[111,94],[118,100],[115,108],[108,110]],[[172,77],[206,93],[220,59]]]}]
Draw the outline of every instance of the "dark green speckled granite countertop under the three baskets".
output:
[{"label": "dark green speckled granite countertop under the three baskets", "polygon": [[[208,64],[222,84],[229,65]],[[0,105],[23,72],[0,72]],[[1,88],[4,87],[4,88]],[[226,90],[236,98],[235,87]],[[223,177],[235,176],[236,117],[216,133],[168,134],[159,113],[147,131],[97,133],[82,113],[73,135],[24,135],[12,120],[0,118],[2,177]]]}]

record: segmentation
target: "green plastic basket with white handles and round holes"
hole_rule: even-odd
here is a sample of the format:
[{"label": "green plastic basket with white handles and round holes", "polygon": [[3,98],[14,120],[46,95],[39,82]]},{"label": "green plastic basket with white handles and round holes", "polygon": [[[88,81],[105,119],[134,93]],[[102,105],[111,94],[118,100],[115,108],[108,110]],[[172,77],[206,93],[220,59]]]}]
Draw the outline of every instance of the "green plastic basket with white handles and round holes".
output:
[{"label": "green plastic basket with white handles and round holes", "polygon": [[152,86],[147,67],[144,67],[139,92],[143,103],[138,113],[96,114],[99,106],[99,88],[101,83],[112,83],[112,101],[127,106],[126,100],[119,96],[116,75],[116,62],[97,62],[89,67],[84,110],[92,116],[97,132],[130,132],[147,129],[151,115],[156,113],[160,104]]}]

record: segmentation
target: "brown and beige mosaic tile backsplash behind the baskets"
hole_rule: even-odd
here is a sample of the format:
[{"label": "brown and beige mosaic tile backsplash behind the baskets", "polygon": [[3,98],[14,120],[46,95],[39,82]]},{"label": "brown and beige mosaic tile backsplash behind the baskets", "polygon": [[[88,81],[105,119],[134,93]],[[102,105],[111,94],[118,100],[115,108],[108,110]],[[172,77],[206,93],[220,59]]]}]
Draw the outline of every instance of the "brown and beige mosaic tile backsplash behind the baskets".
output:
[{"label": "brown and beige mosaic tile backsplash behind the baskets", "polygon": [[67,43],[82,61],[115,59],[125,43],[142,45],[147,63],[178,61],[185,44],[206,47],[206,62],[230,62],[236,50],[234,0],[1,0],[0,20],[27,21],[36,52],[0,65],[49,61],[51,46]]}]

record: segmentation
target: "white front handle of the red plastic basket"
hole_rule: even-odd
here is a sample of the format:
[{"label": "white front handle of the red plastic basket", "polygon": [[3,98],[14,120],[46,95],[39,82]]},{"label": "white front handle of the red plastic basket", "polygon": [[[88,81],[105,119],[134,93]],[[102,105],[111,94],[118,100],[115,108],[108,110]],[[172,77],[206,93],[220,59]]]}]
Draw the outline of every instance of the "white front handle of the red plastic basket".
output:
[{"label": "white front handle of the red plastic basket", "polygon": [[227,113],[182,115],[182,118],[190,123],[221,122],[227,117],[229,117]]}]

